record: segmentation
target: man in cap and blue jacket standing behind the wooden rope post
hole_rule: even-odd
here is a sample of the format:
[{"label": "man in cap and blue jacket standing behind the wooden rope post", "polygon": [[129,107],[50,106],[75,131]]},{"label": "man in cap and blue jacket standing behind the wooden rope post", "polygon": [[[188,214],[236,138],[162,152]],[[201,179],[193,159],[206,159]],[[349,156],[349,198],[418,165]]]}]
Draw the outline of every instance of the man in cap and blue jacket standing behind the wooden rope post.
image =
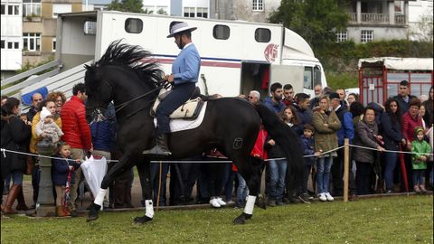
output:
[{"label": "man in cap and blue jacket standing behind the wooden rope post", "polygon": [[[353,142],[354,138],[354,126],[353,126],[353,116],[348,111],[346,107],[342,105],[342,100],[339,94],[332,92],[330,93],[330,100],[332,108],[335,110],[336,116],[339,118],[342,127],[336,132],[337,134],[337,145],[344,145],[344,139],[350,139],[350,144]],[[343,182],[342,176],[344,174],[344,148],[337,150],[337,157],[334,158],[334,163],[332,165],[332,185],[333,191],[336,196],[343,194]],[[351,179],[350,175],[350,179]]]}]

